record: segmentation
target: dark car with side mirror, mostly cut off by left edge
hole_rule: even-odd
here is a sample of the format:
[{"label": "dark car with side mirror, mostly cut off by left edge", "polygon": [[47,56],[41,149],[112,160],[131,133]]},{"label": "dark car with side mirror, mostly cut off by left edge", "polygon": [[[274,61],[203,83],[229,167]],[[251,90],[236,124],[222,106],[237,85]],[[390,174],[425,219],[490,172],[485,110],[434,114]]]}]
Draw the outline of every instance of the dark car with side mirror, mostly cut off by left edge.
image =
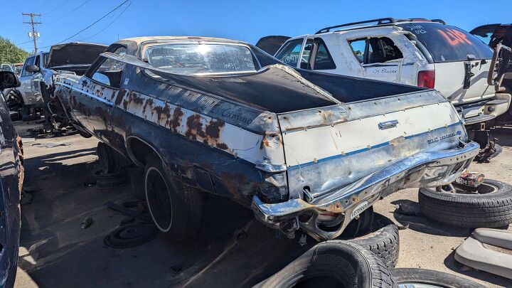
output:
[{"label": "dark car with side mirror, mostly cut off by left edge", "polygon": [[13,287],[18,267],[19,201],[23,183],[21,142],[1,91],[19,85],[13,72],[0,72],[0,287]]}]

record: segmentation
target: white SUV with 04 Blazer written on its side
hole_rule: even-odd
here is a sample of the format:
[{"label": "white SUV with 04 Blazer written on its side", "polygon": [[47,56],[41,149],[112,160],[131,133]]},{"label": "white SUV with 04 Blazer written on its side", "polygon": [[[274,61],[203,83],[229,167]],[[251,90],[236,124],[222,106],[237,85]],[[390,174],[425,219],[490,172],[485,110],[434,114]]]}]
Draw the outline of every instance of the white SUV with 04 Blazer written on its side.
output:
[{"label": "white SUV with 04 Blazer written on its side", "polygon": [[380,18],[327,27],[289,38],[275,57],[302,69],[434,88],[471,130],[484,130],[480,123],[511,102],[487,83],[493,50],[441,20]]}]

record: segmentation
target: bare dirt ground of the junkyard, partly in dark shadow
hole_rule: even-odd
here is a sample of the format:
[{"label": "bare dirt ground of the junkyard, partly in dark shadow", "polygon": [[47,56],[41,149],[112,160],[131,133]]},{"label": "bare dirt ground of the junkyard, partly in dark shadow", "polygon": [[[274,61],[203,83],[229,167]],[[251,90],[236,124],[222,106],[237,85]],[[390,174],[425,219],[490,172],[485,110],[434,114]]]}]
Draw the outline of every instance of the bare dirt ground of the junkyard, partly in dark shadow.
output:
[{"label": "bare dirt ground of the junkyard, partly in dark shadow", "polygon": [[[18,124],[24,134],[27,124]],[[489,164],[471,164],[487,178],[512,181],[512,127],[494,131],[503,154]],[[105,236],[127,220],[105,202],[134,199],[130,185],[102,190],[92,185],[97,169],[97,140],[78,134],[24,140],[26,157],[21,242],[15,287],[248,287],[277,272],[306,247],[252,217],[228,199],[208,196],[201,231],[195,240],[171,242],[164,235],[127,249],[104,244]],[[66,143],[68,142],[68,143]],[[68,144],[35,146],[34,144]],[[473,279],[488,287],[512,287],[512,281],[467,269],[454,249],[470,229],[435,223],[423,216],[394,213],[398,203],[417,203],[417,189],[395,193],[375,211],[400,225],[398,267],[421,267]],[[94,223],[80,228],[85,217]],[[509,227],[508,230],[512,230]],[[314,244],[311,239],[308,244]],[[308,245],[308,246],[309,246]]]}]

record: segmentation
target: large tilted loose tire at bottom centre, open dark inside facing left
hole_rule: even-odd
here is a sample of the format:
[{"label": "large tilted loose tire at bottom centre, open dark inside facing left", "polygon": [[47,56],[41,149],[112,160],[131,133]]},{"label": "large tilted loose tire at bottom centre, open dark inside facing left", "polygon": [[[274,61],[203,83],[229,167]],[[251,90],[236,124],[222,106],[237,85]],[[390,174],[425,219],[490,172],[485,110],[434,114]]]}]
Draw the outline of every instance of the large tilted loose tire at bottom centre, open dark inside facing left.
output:
[{"label": "large tilted loose tire at bottom centre, open dark inside facing left", "polygon": [[255,287],[397,287],[372,252],[343,240],[321,242]]}]

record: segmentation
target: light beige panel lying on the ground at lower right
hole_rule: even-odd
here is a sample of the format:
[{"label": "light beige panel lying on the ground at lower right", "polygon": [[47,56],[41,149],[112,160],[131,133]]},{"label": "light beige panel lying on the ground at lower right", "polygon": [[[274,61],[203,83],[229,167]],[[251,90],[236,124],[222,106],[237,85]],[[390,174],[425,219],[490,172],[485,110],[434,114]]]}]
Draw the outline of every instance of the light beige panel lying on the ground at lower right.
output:
[{"label": "light beige panel lying on the ground at lower right", "polygon": [[512,232],[475,229],[455,250],[455,260],[492,274],[512,279]]}]

